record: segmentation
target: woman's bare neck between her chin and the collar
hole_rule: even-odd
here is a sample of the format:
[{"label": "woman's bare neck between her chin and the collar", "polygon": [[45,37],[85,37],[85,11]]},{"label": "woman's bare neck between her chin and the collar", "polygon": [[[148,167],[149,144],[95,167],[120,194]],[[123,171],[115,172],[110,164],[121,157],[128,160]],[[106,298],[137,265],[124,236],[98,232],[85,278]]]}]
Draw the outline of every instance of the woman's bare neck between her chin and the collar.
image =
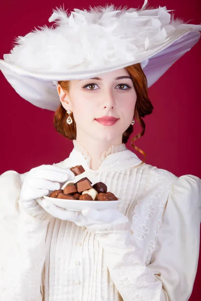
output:
[{"label": "woman's bare neck between her chin and the collar", "polygon": [[97,170],[99,168],[99,160],[102,154],[113,145],[122,144],[122,135],[115,140],[98,140],[86,137],[83,135],[77,135],[76,141],[81,144],[91,157],[90,169]]}]

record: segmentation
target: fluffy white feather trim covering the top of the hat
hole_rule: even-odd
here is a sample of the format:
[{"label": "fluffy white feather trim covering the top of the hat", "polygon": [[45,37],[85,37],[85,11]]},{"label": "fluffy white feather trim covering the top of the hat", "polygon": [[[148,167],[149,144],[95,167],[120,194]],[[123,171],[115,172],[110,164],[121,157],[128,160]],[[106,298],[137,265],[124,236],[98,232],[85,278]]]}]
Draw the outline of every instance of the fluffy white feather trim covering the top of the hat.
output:
[{"label": "fluffy white feather trim covering the top of the hat", "polygon": [[200,25],[174,19],[166,7],[148,9],[147,5],[145,0],[141,9],[106,5],[88,11],[74,9],[70,14],[57,8],[49,18],[51,27],[18,37],[4,58],[34,72],[94,69],[140,59],[175,31],[201,30]]}]

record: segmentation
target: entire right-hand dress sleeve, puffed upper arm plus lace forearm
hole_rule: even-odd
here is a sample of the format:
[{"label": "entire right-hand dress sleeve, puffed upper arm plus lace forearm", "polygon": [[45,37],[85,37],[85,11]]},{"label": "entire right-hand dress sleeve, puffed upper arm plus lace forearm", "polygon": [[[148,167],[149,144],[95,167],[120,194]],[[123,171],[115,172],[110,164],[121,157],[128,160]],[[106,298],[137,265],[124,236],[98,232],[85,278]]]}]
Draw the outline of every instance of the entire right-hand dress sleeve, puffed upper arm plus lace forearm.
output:
[{"label": "entire right-hand dress sleeve, puffed upper arm plus lace forearm", "polygon": [[188,300],[197,269],[199,224],[200,179],[187,175],[173,183],[149,265],[128,223],[97,232],[124,301]]}]

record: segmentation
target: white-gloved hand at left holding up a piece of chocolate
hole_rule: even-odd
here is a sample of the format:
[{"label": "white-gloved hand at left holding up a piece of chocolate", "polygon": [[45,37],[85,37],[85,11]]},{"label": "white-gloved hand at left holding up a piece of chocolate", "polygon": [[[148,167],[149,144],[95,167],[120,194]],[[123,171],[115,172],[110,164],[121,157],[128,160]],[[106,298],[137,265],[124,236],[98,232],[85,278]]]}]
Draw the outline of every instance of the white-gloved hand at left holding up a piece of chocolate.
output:
[{"label": "white-gloved hand at left holding up a piece of chocolate", "polygon": [[20,208],[33,217],[46,219],[49,214],[41,207],[43,196],[59,190],[63,186],[60,183],[74,178],[75,175],[68,168],[41,165],[31,169],[22,185],[19,199]]}]

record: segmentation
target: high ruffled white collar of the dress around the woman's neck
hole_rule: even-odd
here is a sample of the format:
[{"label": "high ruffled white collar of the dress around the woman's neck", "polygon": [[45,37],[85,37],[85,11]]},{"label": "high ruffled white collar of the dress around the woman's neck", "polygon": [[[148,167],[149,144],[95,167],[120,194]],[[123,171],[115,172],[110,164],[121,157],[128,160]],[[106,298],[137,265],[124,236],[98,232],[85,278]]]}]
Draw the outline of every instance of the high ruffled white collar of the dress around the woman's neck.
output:
[{"label": "high ruffled white collar of the dress around the woman's neck", "polygon": [[112,144],[107,150],[105,150],[100,156],[98,162],[98,169],[92,170],[90,168],[91,157],[87,152],[87,149],[78,143],[76,140],[73,140],[73,149],[69,155],[69,158],[64,160],[63,167],[65,166],[76,166],[82,165],[85,171],[90,171],[93,173],[99,173],[100,171],[108,170],[118,170],[129,167],[131,164],[138,165],[142,161],[126,147],[125,143],[118,145]]}]

